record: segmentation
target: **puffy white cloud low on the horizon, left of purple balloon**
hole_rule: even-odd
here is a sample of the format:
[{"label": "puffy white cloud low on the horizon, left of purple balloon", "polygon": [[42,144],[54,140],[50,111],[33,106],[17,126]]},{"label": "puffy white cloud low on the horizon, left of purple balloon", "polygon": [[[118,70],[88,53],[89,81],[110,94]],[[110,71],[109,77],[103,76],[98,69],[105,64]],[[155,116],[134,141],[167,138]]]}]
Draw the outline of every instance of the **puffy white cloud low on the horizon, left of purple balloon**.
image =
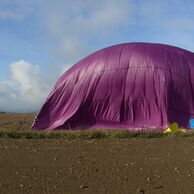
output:
[{"label": "puffy white cloud low on the horizon, left of purple balloon", "polygon": [[47,77],[41,74],[39,66],[27,61],[10,64],[10,80],[0,82],[0,111],[37,111],[63,71],[56,69]]}]

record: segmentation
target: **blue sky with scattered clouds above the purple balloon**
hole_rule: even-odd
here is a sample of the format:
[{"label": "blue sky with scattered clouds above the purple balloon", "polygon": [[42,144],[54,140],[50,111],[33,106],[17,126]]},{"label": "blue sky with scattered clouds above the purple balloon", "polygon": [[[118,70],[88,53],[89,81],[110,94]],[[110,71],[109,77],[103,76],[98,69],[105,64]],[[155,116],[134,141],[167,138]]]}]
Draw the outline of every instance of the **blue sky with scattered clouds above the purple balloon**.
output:
[{"label": "blue sky with scattered clouds above the purple balloon", "polygon": [[193,35],[192,0],[1,0],[0,111],[37,111],[59,75],[98,49],[159,42],[194,51]]}]

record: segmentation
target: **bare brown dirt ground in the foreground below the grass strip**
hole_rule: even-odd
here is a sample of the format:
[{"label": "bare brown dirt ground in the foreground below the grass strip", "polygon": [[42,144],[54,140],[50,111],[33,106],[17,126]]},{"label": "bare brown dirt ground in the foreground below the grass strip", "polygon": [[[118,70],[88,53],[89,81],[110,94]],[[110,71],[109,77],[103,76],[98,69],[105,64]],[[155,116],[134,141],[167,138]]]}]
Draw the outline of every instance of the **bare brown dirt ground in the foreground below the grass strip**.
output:
[{"label": "bare brown dirt ground in the foreground below the grass strip", "polygon": [[0,139],[0,193],[194,193],[194,137]]}]

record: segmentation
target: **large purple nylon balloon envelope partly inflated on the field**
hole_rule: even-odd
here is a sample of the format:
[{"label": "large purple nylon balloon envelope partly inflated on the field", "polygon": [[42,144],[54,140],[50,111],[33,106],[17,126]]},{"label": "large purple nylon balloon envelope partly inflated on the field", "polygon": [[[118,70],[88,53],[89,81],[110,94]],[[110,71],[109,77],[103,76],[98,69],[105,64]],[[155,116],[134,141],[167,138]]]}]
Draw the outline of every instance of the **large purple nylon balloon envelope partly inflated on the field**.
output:
[{"label": "large purple nylon balloon envelope partly inflated on the field", "polygon": [[163,130],[194,118],[194,53],[124,43],[82,59],[57,81],[33,128]]}]

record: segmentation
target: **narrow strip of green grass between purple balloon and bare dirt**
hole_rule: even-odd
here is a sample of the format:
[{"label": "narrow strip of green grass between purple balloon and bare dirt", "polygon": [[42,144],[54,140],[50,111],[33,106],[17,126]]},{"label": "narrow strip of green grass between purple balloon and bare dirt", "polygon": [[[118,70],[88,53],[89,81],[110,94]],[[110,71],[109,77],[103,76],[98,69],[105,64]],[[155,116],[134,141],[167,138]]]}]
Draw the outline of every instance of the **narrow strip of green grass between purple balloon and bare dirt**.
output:
[{"label": "narrow strip of green grass between purple balloon and bare dirt", "polygon": [[194,131],[185,133],[129,132],[126,130],[92,130],[92,131],[0,131],[0,138],[13,139],[124,139],[124,138],[163,138],[194,136]]}]

